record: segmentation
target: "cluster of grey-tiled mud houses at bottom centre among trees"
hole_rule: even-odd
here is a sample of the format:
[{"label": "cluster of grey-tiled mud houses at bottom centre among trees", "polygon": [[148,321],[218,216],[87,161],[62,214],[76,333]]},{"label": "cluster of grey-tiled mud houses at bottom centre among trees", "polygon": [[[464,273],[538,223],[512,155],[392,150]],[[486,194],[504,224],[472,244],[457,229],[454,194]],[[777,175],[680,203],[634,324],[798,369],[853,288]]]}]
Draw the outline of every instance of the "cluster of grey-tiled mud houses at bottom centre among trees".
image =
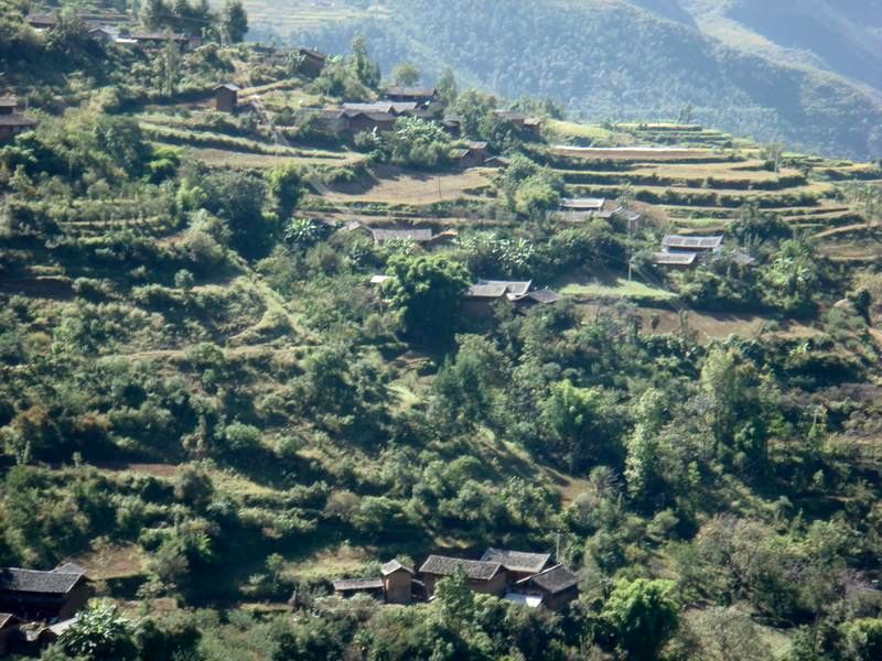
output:
[{"label": "cluster of grey-tiled mud houses at bottom centre among trees", "polygon": [[367,594],[387,604],[431,600],[438,582],[462,572],[469,588],[531,608],[561,610],[579,596],[579,576],[551,561],[550,553],[527,553],[490,548],[481,560],[430,555],[419,571],[397,560],[380,568],[380,576],[335,581],[334,594]]}]

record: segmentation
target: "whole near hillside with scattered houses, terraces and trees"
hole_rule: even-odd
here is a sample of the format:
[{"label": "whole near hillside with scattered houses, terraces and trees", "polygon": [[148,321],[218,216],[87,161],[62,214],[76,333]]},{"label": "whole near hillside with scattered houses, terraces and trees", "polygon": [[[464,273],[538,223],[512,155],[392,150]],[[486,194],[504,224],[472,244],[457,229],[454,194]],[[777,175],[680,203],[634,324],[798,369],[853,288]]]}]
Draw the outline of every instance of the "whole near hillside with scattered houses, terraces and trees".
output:
[{"label": "whole near hillside with scattered houses, terraces and trees", "polygon": [[882,161],[235,7],[19,12],[0,655],[874,658]]}]

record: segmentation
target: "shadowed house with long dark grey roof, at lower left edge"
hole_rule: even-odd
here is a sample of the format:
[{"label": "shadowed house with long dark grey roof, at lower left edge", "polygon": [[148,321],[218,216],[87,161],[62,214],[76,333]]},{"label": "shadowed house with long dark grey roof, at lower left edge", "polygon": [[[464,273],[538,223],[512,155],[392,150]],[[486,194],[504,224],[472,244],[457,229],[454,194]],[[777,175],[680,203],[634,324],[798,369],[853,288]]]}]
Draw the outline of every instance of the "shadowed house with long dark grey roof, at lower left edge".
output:
[{"label": "shadowed house with long dark grey roof, at lower left edge", "polygon": [[1,568],[0,611],[24,620],[69,619],[88,602],[90,584],[83,567],[74,564],[51,572]]}]

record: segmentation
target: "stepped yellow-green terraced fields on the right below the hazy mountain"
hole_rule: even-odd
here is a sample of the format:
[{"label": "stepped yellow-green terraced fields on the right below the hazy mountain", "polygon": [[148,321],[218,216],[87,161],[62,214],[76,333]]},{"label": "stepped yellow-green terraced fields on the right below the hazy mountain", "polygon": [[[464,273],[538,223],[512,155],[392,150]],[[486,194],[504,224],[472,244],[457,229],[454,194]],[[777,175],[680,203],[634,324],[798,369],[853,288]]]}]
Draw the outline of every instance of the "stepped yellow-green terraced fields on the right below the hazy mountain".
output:
[{"label": "stepped yellow-green terraced fields on the right below the hazy mountain", "polygon": [[[867,248],[867,219],[846,201],[842,186],[879,180],[879,165],[788,154],[787,165],[775,172],[755,148],[689,147],[702,144],[707,131],[670,127],[648,131],[643,126],[616,124],[616,130],[631,131],[642,145],[557,145],[549,150],[549,160],[566,182],[568,195],[616,198],[628,191],[657,212],[663,224],[684,234],[723,231],[746,202],[756,202],[762,209],[818,235],[821,241],[836,241],[836,251],[842,256],[873,254]],[[673,144],[665,147],[657,144],[659,133],[695,140],[671,140]],[[856,232],[863,236],[857,245],[848,243]]]}]

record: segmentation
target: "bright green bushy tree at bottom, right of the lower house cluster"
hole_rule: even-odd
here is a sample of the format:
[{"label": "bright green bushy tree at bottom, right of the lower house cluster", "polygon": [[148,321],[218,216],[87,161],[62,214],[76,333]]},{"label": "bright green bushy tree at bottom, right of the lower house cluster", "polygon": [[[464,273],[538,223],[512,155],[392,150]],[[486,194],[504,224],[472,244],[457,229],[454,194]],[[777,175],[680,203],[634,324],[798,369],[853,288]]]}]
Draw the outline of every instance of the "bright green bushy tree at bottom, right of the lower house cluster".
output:
[{"label": "bright green bushy tree at bottom, right of the lower house cluster", "polygon": [[669,581],[619,579],[603,605],[601,621],[628,659],[653,661],[677,629],[677,605]]}]

